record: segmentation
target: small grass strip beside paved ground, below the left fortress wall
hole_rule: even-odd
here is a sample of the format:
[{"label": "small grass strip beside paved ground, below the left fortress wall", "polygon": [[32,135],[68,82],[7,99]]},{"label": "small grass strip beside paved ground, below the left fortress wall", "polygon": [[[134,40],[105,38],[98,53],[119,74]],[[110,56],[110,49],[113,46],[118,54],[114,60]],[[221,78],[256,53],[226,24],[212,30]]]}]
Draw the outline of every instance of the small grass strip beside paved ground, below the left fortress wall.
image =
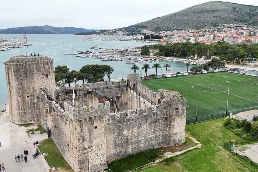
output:
[{"label": "small grass strip beside paved ground, below the left fortress wall", "polygon": [[73,171],[63,158],[52,138],[48,138],[40,143],[42,143],[42,146],[39,146],[40,152],[49,154],[49,156],[45,156],[44,158],[51,168],[58,167],[62,171]]}]

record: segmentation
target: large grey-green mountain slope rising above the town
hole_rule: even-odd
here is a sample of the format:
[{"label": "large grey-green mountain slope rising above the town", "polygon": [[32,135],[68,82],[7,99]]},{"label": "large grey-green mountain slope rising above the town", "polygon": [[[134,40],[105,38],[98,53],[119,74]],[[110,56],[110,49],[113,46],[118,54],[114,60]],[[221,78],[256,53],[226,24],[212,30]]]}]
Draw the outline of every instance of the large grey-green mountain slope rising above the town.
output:
[{"label": "large grey-green mountain slope rising above the town", "polygon": [[121,30],[137,32],[141,30],[201,29],[218,26],[221,23],[246,23],[258,26],[258,6],[242,5],[230,2],[211,1],[134,24]]}]

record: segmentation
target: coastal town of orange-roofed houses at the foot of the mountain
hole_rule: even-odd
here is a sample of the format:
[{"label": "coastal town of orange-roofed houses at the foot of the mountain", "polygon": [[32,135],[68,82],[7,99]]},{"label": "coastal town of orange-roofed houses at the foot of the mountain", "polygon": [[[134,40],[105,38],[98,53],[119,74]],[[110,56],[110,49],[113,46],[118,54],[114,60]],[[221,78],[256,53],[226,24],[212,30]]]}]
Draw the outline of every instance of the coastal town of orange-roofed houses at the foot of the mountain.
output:
[{"label": "coastal town of orange-roofed houses at the foot of the mountain", "polygon": [[[132,35],[133,33],[124,32],[123,30],[109,30],[104,33],[92,33],[92,35]],[[218,41],[227,42],[231,44],[256,44],[258,43],[258,27],[249,26],[242,23],[237,24],[221,24],[220,26],[203,28],[203,29],[185,29],[172,31],[151,31],[141,30],[140,33],[130,36],[127,40],[143,41],[145,36],[149,35],[149,41],[154,41],[152,35],[162,36],[160,44],[166,43],[180,43],[180,42],[200,42],[204,44],[211,44]],[[103,39],[105,40],[105,39]],[[111,37],[109,40],[113,40]],[[159,39],[157,39],[159,40]],[[157,41],[156,40],[156,41]],[[148,42],[148,40],[147,40]]]}]

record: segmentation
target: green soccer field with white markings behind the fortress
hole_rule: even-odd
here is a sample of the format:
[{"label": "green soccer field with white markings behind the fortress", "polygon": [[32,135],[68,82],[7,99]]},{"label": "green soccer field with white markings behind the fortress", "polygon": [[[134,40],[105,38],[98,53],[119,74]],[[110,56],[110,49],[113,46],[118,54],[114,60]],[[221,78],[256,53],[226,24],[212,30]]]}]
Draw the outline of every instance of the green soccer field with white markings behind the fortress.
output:
[{"label": "green soccer field with white markings behind the fortress", "polygon": [[[187,119],[258,106],[258,77],[229,72],[143,80],[152,90],[178,91],[187,100]],[[256,83],[257,82],[257,85]]]}]

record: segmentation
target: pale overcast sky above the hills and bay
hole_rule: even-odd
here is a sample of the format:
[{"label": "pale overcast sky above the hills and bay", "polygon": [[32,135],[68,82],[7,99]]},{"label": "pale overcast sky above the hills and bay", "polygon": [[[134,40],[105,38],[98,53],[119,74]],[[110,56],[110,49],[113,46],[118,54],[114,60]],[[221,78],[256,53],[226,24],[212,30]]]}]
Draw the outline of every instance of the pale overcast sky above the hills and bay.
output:
[{"label": "pale overcast sky above the hills and bay", "polygon": [[[258,0],[222,1],[258,6]],[[43,25],[113,29],[204,2],[209,0],[0,0],[0,29]]]}]

